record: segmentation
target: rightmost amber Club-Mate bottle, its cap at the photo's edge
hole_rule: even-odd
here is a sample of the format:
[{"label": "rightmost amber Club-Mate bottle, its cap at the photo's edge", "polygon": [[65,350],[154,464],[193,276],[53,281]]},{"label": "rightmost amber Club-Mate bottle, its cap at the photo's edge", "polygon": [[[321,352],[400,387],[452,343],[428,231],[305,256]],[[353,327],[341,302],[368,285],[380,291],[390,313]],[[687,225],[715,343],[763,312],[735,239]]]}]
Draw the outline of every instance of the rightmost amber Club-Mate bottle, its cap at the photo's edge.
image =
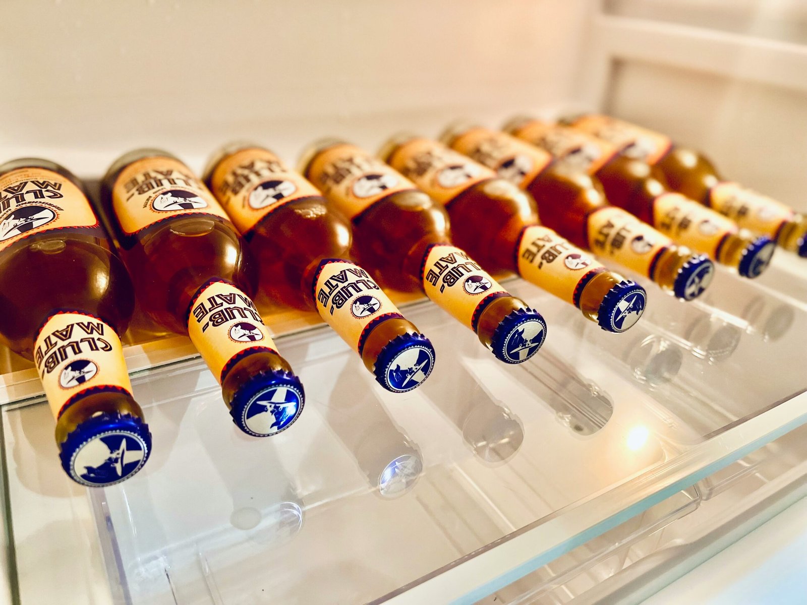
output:
[{"label": "rightmost amber Club-Mate bottle, its cap at the photo's edge", "polygon": [[613,144],[623,155],[658,168],[672,189],[732,219],[740,227],[771,237],[785,250],[807,257],[807,216],[773,198],[725,181],[700,152],[667,136],[607,115],[564,120],[575,129]]}]

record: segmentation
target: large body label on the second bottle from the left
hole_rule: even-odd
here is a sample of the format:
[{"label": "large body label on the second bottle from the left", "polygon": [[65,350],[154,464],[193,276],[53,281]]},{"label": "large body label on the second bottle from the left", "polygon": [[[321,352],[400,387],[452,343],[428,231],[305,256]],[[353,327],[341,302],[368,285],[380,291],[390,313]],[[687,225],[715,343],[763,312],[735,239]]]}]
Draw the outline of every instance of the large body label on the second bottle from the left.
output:
[{"label": "large body label on the second bottle from the left", "polygon": [[228,219],[202,181],[172,157],[145,157],[126,166],[112,187],[112,209],[128,236],[182,215]]}]

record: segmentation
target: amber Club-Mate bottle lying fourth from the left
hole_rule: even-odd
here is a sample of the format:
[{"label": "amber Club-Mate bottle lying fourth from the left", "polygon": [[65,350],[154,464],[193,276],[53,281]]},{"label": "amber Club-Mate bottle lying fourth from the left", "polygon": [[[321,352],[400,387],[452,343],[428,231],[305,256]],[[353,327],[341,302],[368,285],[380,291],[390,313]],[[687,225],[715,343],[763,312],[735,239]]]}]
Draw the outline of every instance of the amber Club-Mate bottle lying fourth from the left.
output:
[{"label": "amber Club-Mate bottle lying fourth from the left", "polygon": [[544,319],[450,243],[445,209],[412,181],[332,139],[307,149],[301,172],[350,219],[353,257],[382,286],[424,291],[501,361],[521,363],[537,353]]}]

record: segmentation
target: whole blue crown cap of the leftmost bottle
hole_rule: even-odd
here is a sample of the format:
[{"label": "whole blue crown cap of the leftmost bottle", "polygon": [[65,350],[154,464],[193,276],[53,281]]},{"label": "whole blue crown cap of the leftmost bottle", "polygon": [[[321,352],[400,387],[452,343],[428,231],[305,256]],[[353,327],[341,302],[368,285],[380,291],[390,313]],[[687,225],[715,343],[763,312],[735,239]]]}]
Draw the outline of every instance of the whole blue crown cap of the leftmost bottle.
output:
[{"label": "whole blue crown cap of the leftmost bottle", "polygon": [[148,424],[104,412],[79,424],[61,444],[61,466],[82,486],[105,487],[132,477],[151,454]]}]

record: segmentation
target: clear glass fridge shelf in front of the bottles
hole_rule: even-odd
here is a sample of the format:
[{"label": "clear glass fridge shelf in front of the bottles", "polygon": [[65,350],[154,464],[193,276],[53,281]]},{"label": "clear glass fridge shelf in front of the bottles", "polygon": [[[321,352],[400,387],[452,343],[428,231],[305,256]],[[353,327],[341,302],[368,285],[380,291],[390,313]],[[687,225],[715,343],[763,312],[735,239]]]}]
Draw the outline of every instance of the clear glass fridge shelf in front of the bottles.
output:
[{"label": "clear glass fridge shelf in front of the bottles", "polygon": [[31,603],[474,603],[564,555],[605,565],[613,528],[628,549],[807,421],[807,273],[778,256],[758,282],[720,269],[703,301],[649,286],[624,335],[509,281],[549,324],[521,365],[409,304],[437,362],[403,395],[326,328],[281,336],[307,403],[266,440],[232,425],[199,359],[140,373],[153,456],[103,490],[62,474],[44,403],[6,405],[15,590]]}]

